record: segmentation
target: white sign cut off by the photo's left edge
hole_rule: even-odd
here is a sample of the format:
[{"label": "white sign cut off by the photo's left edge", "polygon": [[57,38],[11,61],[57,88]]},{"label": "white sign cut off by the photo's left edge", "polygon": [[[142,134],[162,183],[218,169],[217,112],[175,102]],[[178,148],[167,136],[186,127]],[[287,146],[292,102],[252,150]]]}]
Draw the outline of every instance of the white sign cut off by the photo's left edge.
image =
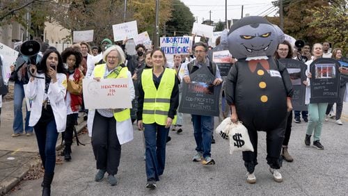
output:
[{"label": "white sign cut off by the photo's left edge", "polygon": [[3,57],[1,60],[3,69],[5,70],[5,78],[3,80],[7,83],[11,76],[10,66],[15,64],[18,52],[5,44],[0,43],[0,54]]}]

